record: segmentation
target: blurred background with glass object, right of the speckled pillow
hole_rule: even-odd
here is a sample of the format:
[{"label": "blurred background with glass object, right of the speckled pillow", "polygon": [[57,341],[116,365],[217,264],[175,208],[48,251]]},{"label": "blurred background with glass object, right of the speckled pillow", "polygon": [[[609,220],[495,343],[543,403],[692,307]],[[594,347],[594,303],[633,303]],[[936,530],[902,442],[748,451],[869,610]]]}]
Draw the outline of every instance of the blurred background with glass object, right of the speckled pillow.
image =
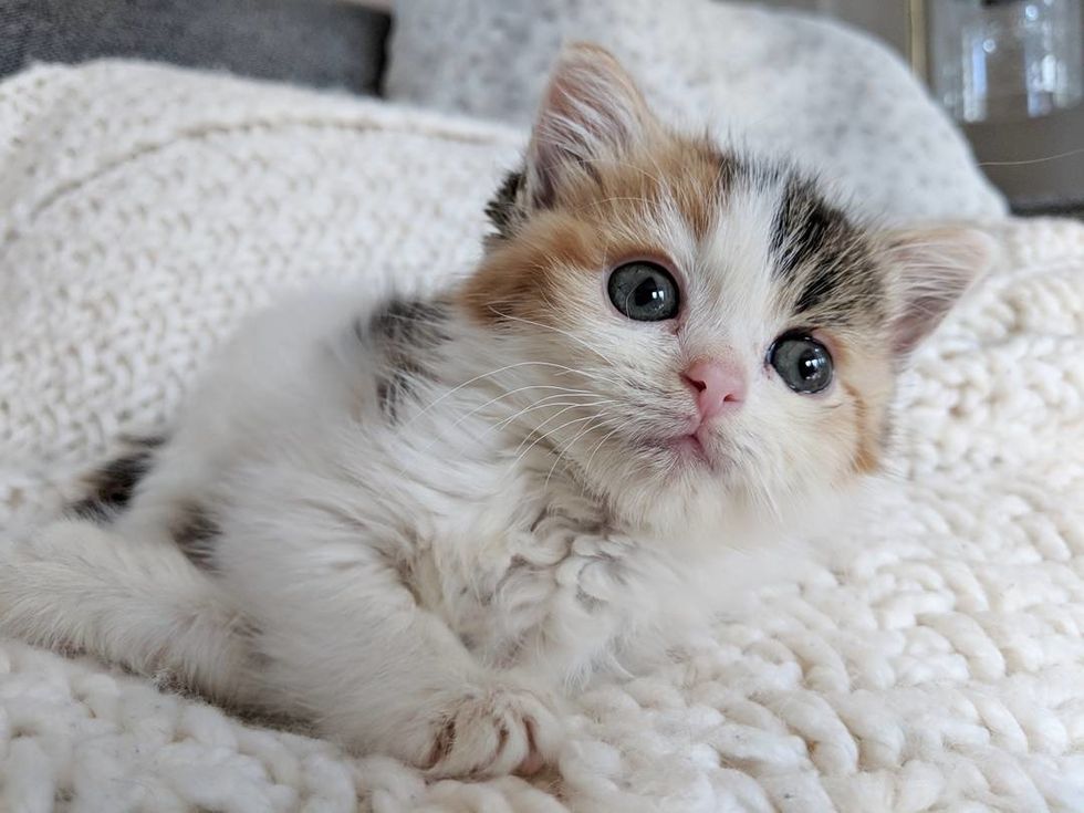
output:
[{"label": "blurred background with glass object, right of the speckled pillow", "polygon": [[1019,213],[1084,216],[1080,0],[776,0],[907,60]]}]

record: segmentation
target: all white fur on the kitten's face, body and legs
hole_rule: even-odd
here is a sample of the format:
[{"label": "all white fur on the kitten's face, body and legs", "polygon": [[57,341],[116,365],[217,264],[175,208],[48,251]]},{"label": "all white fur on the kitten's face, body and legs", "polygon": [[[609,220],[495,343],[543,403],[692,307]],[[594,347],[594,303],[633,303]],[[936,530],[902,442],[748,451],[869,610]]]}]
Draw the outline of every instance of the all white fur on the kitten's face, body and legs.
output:
[{"label": "all white fur on the kitten's face, body and legs", "polygon": [[[635,98],[597,104],[600,86],[629,87],[619,76],[560,80],[583,94],[570,115],[634,126]],[[606,127],[588,124],[566,136],[594,155]],[[562,695],[658,660],[800,564],[785,520],[807,532],[840,491],[850,452],[811,431],[840,388],[805,398],[763,361],[789,326],[764,282],[780,194],[734,190],[705,244],[666,201],[642,218],[688,278],[680,332],[606,310],[597,274],[549,303],[565,329],[483,326],[447,303],[446,340],[415,348],[432,377],[410,376],[394,418],[363,293],[265,314],[106,530],[64,521],[3,559],[2,629],[313,719],[434,775],[535,769]],[[718,354],[749,392],[707,467],[658,441],[696,417],[680,371]],[[219,525],[212,574],[174,543],[192,504]]]}]

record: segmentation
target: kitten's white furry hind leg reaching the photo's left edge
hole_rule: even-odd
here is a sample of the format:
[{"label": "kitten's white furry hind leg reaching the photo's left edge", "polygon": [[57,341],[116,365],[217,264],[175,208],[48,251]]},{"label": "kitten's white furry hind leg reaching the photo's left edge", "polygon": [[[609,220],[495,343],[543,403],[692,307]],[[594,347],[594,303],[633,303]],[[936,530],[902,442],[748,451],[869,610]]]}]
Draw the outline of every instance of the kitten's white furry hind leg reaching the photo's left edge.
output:
[{"label": "kitten's white furry hind leg reaching the photo's left edge", "polygon": [[0,545],[0,633],[254,703],[243,622],[174,546],[84,520]]}]

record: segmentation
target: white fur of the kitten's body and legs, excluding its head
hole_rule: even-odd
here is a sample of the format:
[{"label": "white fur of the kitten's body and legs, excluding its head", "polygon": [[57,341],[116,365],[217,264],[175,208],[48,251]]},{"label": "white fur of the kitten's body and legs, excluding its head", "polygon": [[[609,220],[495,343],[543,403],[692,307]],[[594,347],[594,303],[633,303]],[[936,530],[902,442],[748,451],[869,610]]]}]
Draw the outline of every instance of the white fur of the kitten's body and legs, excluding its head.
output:
[{"label": "white fur of the kitten's body and legs, excluding its head", "polygon": [[[503,379],[483,352],[445,371],[472,384],[389,427],[358,402],[372,371],[351,316],[365,309],[312,296],[257,320],[113,528],[63,521],[6,559],[3,628],[418,764],[455,719],[434,772],[508,772],[530,755],[528,726],[552,753],[555,695],[679,645],[768,560],[705,570],[719,557],[692,543],[628,535],[553,473],[549,447],[521,456],[493,431],[524,407],[490,403]],[[455,329],[457,347],[481,341]],[[210,576],[168,538],[190,499],[220,512]]]}]

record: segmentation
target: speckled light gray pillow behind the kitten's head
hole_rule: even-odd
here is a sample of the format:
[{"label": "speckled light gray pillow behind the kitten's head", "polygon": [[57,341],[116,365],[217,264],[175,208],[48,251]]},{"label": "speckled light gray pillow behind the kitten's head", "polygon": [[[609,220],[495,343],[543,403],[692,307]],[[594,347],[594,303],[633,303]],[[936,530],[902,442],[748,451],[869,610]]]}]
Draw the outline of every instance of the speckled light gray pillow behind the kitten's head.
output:
[{"label": "speckled light gray pillow behind the kitten's head", "polygon": [[397,0],[390,98],[527,125],[563,40],[612,49],[675,122],[786,152],[893,221],[996,217],[1003,198],[886,46],[710,0]]}]

